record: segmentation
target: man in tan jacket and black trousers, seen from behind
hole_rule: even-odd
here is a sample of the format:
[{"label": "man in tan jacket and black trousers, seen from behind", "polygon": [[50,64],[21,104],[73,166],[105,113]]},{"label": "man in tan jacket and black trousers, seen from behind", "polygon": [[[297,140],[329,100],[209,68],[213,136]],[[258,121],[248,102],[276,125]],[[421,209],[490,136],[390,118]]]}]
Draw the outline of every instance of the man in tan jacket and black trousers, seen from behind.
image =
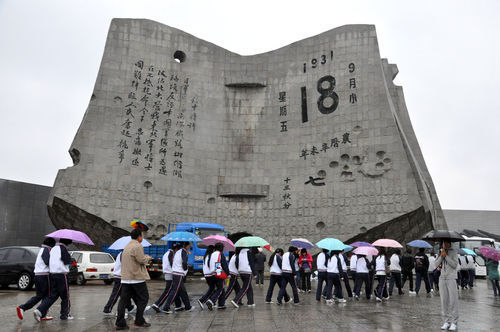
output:
[{"label": "man in tan jacket and black trousers, seen from behind", "polygon": [[149,273],[146,270],[146,265],[153,258],[144,254],[144,248],[141,245],[143,235],[140,228],[133,229],[130,232],[130,237],[132,240],[130,240],[125,249],[123,249],[121,257],[122,289],[115,323],[115,328],[117,330],[128,329],[125,320],[125,307],[130,303],[130,299],[133,299],[134,303],[137,305],[134,326],[151,326],[151,324],[144,319],[144,310],[149,300],[146,280],[150,279]]}]

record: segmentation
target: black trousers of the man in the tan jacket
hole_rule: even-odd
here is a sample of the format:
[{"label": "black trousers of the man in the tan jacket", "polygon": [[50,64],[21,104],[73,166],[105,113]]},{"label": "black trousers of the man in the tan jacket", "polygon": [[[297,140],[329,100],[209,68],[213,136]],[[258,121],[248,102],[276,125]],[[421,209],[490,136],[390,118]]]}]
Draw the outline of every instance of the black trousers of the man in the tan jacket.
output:
[{"label": "black trousers of the man in the tan jacket", "polygon": [[125,320],[125,307],[130,300],[134,300],[137,305],[137,311],[135,313],[135,324],[142,325],[146,321],[144,320],[144,309],[149,300],[148,286],[146,282],[140,282],[138,284],[122,284],[122,292],[120,294],[120,302],[118,302],[118,314],[116,317],[115,325],[118,327],[124,327],[127,325]]}]

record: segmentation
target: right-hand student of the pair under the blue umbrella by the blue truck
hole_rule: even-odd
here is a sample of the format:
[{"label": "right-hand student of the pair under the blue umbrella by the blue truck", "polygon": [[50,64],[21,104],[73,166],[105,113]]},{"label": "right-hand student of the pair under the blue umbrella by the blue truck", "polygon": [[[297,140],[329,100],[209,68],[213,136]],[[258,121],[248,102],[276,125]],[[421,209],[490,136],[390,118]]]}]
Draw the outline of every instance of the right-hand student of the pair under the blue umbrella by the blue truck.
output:
[{"label": "right-hand student of the pair under the blue umbrella by the blue truck", "polygon": [[172,261],[172,288],[168,292],[167,300],[163,306],[163,312],[166,314],[171,314],[170,305],[174,302],[175,298],[179,298],[184,303],[184,311],[192,311],[193,307],[189,302],[189,296],[184,286],[184,280],[188,271],[188,253],[190,248],[189,242],[183,242],[178,245],[178,249],[175,252],[174,259]]}]

